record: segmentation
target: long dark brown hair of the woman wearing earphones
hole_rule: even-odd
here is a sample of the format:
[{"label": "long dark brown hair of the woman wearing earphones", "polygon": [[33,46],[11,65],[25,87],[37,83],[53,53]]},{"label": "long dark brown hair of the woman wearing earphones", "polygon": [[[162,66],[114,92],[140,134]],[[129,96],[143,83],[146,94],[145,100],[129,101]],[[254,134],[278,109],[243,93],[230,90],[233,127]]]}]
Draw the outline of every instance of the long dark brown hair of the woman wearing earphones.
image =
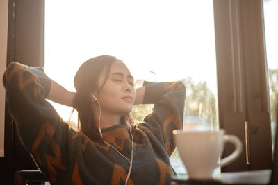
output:
[{"label": "long dark brown hair of the woman wearing earphones", "polygon": [[[102,55],[91,58],[84,62],[74,77],[74,87],[76,96],[74,98],[74,109],[78,112],[79,130],[86,134],[93,141],[100,141],[98,125],[95,122],[95,112],[92,105],[95,103],[91,100],[92,91],[100,91],[108,79],[113,62],[120,61],[110,55]],[[105,70],[105,71],[104,71]],[[104,83],[98,87],[98,80],[101,72],[105,72]],[[133,125],[133,118],[130,114],[122,116],[121,123],[126,127]]]}]

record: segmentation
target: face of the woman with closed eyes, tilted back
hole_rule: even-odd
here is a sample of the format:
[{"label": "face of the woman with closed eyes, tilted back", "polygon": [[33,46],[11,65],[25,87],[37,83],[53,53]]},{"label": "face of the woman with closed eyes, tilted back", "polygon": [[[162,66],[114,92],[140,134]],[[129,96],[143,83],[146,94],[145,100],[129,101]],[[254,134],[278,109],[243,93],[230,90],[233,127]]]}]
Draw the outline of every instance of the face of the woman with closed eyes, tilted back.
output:
[{"label": "face of the woman with closed eyes, tilted back", "polygon": [[[99,87],[104,84],[105,69],[99,76]],[[136,91],[133,85],[133,76],[129,69],[120,61],[111,65],[111,70],[104,86],[99,93],[95,92],[101,106],[101,112],[123,116],[131,112]]]}]

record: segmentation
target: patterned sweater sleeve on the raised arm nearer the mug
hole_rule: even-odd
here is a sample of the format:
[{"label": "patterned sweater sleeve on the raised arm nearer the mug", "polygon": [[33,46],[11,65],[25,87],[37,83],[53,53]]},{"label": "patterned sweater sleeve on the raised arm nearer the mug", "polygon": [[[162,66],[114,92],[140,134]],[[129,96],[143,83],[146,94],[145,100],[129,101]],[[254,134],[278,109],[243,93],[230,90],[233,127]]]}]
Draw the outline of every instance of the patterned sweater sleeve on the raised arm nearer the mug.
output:
[{"label": "patterned sweater sleeve on the raised arm nearer the mug", "polygon": [[185,86],[183,82],[144,82],[144,86],[143,103],[152,103],[154,107],[142,124],[149,128],[170,156],[176,147],[172,132],[183,127]]}]

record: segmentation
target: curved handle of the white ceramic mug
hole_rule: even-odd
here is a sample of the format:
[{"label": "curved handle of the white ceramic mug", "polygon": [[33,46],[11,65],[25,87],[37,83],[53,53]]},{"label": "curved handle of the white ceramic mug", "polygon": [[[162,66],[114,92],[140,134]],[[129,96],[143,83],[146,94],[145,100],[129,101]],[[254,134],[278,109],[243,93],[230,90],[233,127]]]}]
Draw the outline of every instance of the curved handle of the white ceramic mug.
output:
[{"label": "curved handle of the white ceramic mug", "polygon": [[233,143],[236,147],[234,152],[231,153],[231,155],[225,157],[220,161],[220,166],[226,166],[227,164],[231,164],[234,160],[238,159],[241,152],[243,151],[243,144],[241,143],[240,139],[238,139],[237,136],[233,135],[224,135],[224,143]]}]

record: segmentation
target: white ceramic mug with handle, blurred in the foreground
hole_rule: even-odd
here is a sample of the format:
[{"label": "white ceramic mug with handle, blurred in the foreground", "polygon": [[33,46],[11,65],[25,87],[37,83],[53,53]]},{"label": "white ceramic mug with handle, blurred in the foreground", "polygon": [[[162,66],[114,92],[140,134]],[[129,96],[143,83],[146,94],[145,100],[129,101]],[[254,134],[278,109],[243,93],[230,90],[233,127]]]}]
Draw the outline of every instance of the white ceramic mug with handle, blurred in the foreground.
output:
[{"label": "white ceramic mug with handle, blurred in the foreground", "polygon": [[[237,136],[225,135],[225,131],[186,131],[176,130],[174,141],[190,179],[212,179],[213,170],[226,166],[237,159],[242,152],[242,143]],[[224,143],[235,146],[231,155],[220,161]]]}]

